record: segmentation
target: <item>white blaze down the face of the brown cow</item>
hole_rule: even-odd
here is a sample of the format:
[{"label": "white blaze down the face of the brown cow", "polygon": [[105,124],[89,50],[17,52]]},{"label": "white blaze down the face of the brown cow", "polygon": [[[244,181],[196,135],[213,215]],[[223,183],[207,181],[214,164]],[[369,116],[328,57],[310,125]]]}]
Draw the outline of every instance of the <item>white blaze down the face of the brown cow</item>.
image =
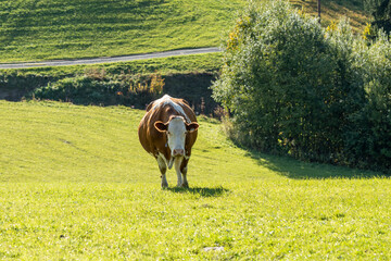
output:
[{"label": "white blaze down the face of the brown cow", "polygon": [[182,150],[185,154],[186,125],[182,117],[174,117],[168,124],[167,144],[174,156],[174,150]]}]

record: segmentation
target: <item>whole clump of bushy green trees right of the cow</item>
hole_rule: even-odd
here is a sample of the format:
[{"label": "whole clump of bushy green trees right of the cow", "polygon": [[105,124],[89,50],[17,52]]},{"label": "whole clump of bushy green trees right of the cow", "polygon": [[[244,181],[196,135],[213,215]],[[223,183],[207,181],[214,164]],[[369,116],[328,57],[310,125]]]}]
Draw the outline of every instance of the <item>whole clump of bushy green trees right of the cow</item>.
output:
[{"label": "whole clump of bushy green trees right of the cow", "polygon": [[391,45],[346,22],[324,29],[288,2],[250,7],[227,41],[214,98],[230,135],[262,151],[390,171]]}]

